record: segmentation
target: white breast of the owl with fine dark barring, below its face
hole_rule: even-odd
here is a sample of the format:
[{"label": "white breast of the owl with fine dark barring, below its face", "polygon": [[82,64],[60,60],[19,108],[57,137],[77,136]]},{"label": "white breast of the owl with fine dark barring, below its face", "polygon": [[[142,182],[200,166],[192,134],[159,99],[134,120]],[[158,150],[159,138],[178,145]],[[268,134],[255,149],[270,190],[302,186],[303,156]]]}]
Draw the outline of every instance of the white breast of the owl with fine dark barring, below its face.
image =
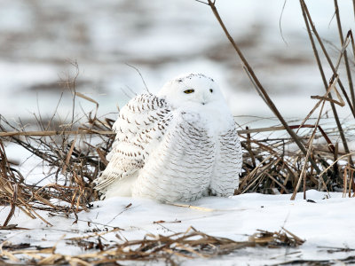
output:
[{"label": "white breast of the owl with fine dark barring, below its face", "polygon": [[140,171],[133,196],[190,201],[214,191],[210,185],[220,154],[216,132],[198,113],[175,114],[176,122]]}]

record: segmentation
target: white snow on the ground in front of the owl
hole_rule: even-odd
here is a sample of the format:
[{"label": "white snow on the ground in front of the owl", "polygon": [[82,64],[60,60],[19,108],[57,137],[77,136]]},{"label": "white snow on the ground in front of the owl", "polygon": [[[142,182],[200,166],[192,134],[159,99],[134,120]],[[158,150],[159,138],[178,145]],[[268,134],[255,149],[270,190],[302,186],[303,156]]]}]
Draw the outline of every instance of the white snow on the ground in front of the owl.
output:
[{"label": "white snow on the ground in front of the owl", "polygon": [[[354,247],[355,213],[351,211],[354,198],[343,198],[339,192],[308,191],[308,202],[303,200],[303,193],[298,193],[296,200],[289,200],[290,195],[264,195],[247,193],[232,198],[202,198],[191,202],[194,207],[177,207],[158,203],[154,200],[135,198],[112,198],[93,202],[89,212],[68,218],[59,215],[45,215],[53,224],[45,225],[40,219],[31,219],[16,210],[11,223],[28,228],[23,231],[1,231],[0,238],[12,244],[31,243],[32,245],[53,246],[58,242],[60,254],[84,253],[79,247],[68,246],[65,239],[83,237],[88,230],[97,228],[119,227],[122,239],[142,239],[146,233],[170,235],[184,232],[190,226],[198,231],[216,237],[234,240],[246,240],[257,230],[280,231],[281,227],[305,239],[304,245],[296,248],[261,248],[248,247],[213,260],[196,259],[182,261],[183,265],[261,265],[287,262],[293,259],[332,260],[341,259],[354,252],[330,254],[321,246]],[[131,204],[130,207],[127,207]],[[0,211],[0,220],[4,221],[10,207]],[[166,223],[154,223],[165,221]],[[181,221],[179,223],[174,223]],[[89,223],[90,222],[90,225]],[[119,241],[116,232],[105,235],[103,241]]]}]

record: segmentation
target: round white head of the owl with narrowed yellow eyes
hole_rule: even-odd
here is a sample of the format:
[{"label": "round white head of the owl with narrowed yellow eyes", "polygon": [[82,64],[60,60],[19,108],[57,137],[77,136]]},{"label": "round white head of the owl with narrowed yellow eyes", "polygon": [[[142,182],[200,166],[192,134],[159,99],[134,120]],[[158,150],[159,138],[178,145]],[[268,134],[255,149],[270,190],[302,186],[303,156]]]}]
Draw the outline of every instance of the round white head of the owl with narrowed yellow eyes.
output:
[{"label": "round white head of the owl with narrowed yellow eyes", "polygon": [[165,98],[175,107],[207,108],[225,98],[217,83],[204,74],[180,74],[165,83],[158,96]]}]

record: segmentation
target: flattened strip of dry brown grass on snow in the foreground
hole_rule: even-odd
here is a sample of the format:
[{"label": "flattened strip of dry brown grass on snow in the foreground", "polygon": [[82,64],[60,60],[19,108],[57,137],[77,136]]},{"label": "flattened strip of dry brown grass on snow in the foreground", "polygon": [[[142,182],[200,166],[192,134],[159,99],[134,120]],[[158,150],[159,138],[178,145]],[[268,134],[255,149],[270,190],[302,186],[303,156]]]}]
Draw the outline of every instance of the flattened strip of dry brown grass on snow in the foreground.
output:
[{"label": "flattened strip of dry brown grass on snow in the foreground", "polygon": [[[117,230],[114,230],[117,231]],[[107,233],[114,233],[107,231]],[[56,246],[38,249],[34,246],[6,246],[2,247],[2,255],[12,261],[19,261],[17,256],[26,255],[29,264],[53,265],[98,265],[124,261],[154,262],[165,261],[170,265],[177,265],[177,258],[211,258],[220,254],[230,254],[242,247],[268,246],[299,246],[304,240],[283,229],[279,232],[259,231],[247,241],[234,241],[232,239],[213,237],[193,227],[184,233],[174,233],[169,236],[147,234],[144,239],[124,241],[116,244],[104,244],[100,237],[102,234],[87,237],[67,239],[67,245],[78,246],[80,243],[85,250],[97,249],[80,255],[57,254]]]}]

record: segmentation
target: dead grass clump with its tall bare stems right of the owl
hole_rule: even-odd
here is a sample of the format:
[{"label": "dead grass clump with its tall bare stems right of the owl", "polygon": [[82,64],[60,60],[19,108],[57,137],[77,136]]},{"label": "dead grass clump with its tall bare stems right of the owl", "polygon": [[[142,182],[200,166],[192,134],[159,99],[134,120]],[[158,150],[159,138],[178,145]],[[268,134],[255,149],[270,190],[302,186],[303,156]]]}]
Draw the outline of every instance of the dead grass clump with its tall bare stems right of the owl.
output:
[{"label": "dead grass clump with its tall bare stems right of the owl", "polygon": [[[312,108],[309,115],[300,122],[296,127],[292,127],[288,124],[278,108],[274,105],[272,99],[270,98],[267,90],[265,90],[262,83],[256,77],[256,74],[252,66],[248,63],[239,45],[233,40],[232,35],[229,33],[228,29],[225,27],[225,23],[217,11],[216,1],[207,0],[201,1],[196,0],[202,4],[206,4],[211,9],[212,13],[215,15],[219,25],[225,33],[225,36],[229,42],[233,45],[234,51],[241,59],[241,63],[244,71],[248,75],[248,78],[252,85],[255,87],[256,92],[264,100],[264,103],[270,107],[272,113],[280,121],[282,129],[288,132],[289,137],[286,139],[277,139],[272,142],[271,139],[266,139],[266,141],[261,142],[260,139],[252,139],[250,137],[250,130],[243,130],[247,137],[246,143],[243,147],[248,153],[244,160],[244,169],[246,170],[245,175],[241,179],[241,187],[236,192],[272,192],[272,193],[284,193],[293,192],[291,200],[295,200],[296,192],[300,190],[301,184],[303,185],[302,190],[304,191],[304,199],[306,198],[305,192],[307,189],[317,189],[322,191],[334,191],[334,190],[347,190],[346,185],[344,186],[343,177],[346,172],[346,168],[354,168],[350,151],[348,140],[345,137],[346,131],[343,129],[343,124],[340,121],[339,115],[336,110],[336,106],[346,106],[352,116],[355,118],[355,93],[353,88],[353,83],[351,79],[351,69],[349,58],[347,56],[348,46],[351,46],[352,55],[355,55],[355,45],[351,30],[348,31],[346,37],[343,37],[343,29],[341,26],[340,12],[335,0],[335,15],[336,23],[339,31],[341,48],[339,49],[339,55],[336,60],[336,64],[330,59],[327,49],[323,44],[322,39],[319,37],[317,29],[312,21],[310,12],[308,11],[307,5],[304,0],[300,0],[300,7],[304,16],[304,23],[308,31],[308,35],[312,44],[312,51],[314,53],[317,65],[319,67],[319,74],[321,75],[326,93],[323,96],[312,96],[311,98],[319,99],[316,105]],[[313,35],[316,37],[320,49],[327,61],[328,66],[332,69],[332,74],[327,77],[323,71],[323,65],[319,59],[319,52],[317,48],[317,43],[313,39]],[[350,45],[351,43],[351,45]],[[349,49],[350,50],[350,49]],[[339,66],[343,61],[346,68],[346,76],[340,77]],[[345,90],[341,78],[347,79],[349,88],[348,91],[351,93],[351,98],[348,96],[347,90]],[[340,88],[342,94],[336,89]],[[332,96],[335,95],[337,98]],[[345,100],[343,100],[345,98]],[[302,103],[298,103],[302,105]],[[334,121],[336,124],[337,137],[341,139],[340,145],[343,145],[343,154],[338,149],[338,144],[333,144],[325,130],[319,127],[321,119],[323,119],[323,108],[326,104],[329,104],[332,108],[332,113],[334,115]],[[320,106],[320,108],[319,108]],[[318,119],[313,125],[305,125],[316,110],[319,110]],[[304,128],[305,126],[312,127],[313,130],[306,136],[299,136],[298,129]],[[280,129],[280,127],[273,127],[273,129]],[[295,132],[294,129],[297,129]],[[272,130],[266,129],[266,130]],[[260,131],[265,131],[265,129],[260,129]],[[256,131],[254,131],[256,132]],[[317,134],[321,134],[327,141],[327,145],[323,145],[321,150],[319,150],[313,141],[317,138]],[[282,141],[280,143],[280,141]],[[296,153],[290,154],[284,142],[292,144],[297,147]],[[329,150],[329,152],[327,152]],[[347,167],[338,164],[338,160],[345,161]],[[329,160],[332,162],[329,163]],[[352,172],[351,172],[352,175]],[[353,182],[354,176],[348,176],[351,184],[352,192],[355,192],[355,184]]]}]

